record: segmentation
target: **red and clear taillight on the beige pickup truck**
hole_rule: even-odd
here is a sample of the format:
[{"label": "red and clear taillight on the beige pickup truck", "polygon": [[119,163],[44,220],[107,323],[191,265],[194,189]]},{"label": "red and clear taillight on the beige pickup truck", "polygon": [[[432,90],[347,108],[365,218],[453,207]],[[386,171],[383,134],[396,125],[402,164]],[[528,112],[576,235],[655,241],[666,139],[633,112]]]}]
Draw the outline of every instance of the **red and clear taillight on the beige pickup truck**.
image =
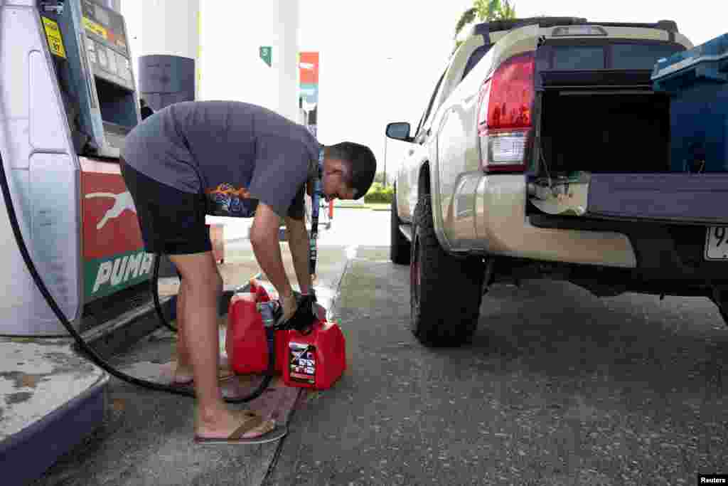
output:
[{"label": "red and clear taillight on the beige pickup truck", "polygon": [[526,141],[533,126],[533,53],[510,58],[480,88],[480,167],[486,172],[526,170]]}]

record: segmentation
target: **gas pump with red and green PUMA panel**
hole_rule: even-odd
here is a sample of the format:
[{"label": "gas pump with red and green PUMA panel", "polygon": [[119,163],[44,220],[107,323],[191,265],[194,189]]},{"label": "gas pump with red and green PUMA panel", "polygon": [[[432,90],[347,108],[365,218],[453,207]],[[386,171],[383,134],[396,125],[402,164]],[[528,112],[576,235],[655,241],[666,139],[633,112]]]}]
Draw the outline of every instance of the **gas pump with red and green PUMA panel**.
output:
[{"label": "gas pump with red and green PUMA panel", "polygon": [[[0,154],[12,205],[44,283],[85,330],[109,297],[124,291],[124,301],[138,302],[154,262],[118,165],[140,121],[124,18],[92,0],[0,6],[0,32],[12,39],[0,45]],[[0,334],[65,335],[5,214]]]}]

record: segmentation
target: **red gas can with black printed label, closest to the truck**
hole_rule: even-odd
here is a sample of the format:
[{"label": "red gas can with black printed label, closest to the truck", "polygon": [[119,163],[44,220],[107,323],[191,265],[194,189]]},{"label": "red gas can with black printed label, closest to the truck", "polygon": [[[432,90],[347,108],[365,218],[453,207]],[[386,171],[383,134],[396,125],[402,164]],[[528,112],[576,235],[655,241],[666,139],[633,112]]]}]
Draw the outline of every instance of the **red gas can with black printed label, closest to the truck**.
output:
[{"label": "red gas can with black printed label, closest to the truck", "polygon": [[316,321],[310,334],[291,330],[284,335],[283,356],[277,361],[285,364],[286,385],[325,390],[347,369],[347,343],[338,324]]}]

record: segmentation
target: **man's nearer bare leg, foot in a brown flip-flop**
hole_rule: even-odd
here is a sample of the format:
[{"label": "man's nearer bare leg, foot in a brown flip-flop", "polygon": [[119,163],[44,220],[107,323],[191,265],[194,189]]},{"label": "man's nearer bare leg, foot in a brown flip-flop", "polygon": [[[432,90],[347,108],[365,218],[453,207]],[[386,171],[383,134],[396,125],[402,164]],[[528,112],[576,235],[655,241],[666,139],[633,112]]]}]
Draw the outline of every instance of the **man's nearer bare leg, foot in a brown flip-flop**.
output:
[{"label": "man's nearer bare leg, foot in a brown flip-flop", "polygon": [[[184,336],[198,405],[196,433],[205,438],[226,437],[240,426],[244,417],[242,412],[231,412],[226,407],[218,381],[220,340],[217,311],[223,289],[222,279],[210,251],[170,255],[170,259],[182,275]],[[269,428],[269,424],[263,423],[244,437],[260,436]]]}]

